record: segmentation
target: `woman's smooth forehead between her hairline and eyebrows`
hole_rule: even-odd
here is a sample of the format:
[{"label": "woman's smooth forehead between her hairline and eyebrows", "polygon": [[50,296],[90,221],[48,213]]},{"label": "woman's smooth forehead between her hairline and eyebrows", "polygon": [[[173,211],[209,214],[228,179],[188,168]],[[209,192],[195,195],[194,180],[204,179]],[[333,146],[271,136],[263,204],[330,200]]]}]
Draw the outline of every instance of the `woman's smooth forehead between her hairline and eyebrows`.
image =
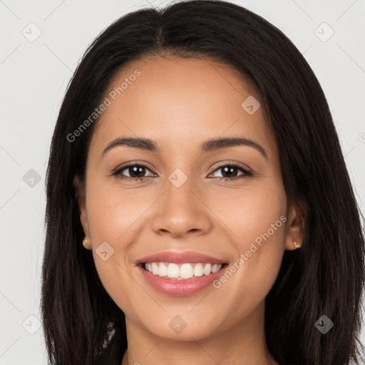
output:
[{"label": "woman's smooth forehead between her hairline and eyebrows", "polygon": [[[135,76],[138,75],[138,76]],[[259,96],[230,66],[196,58],[152,56],[128,63],[106,92],[91,145],[120,136],[143,136],[163,145],[192,145],[224,135],[269,144],[263,108],[250,115],[242,103]],[[249,99],[251,100],[251,99]]]}]

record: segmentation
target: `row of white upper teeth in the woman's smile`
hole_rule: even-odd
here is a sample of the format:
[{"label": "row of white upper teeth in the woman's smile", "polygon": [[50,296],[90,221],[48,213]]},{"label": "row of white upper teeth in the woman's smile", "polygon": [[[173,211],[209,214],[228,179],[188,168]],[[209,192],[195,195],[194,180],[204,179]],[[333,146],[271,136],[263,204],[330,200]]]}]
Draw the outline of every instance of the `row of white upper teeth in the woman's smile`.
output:
[{"label": "row of white upper teeth in the woman's smile", "polygon": [[219,271],[222,264],[175,264],[173,262],[147,262],[145,269],[151,274],[170,279],[191,279]]}]

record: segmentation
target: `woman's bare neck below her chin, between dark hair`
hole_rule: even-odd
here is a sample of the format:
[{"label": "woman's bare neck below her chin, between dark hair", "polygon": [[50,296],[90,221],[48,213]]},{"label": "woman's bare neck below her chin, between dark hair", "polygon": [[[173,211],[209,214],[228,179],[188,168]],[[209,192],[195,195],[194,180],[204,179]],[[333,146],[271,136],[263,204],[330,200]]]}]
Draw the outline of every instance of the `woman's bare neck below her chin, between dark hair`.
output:
[{"label": "woman's bare neck below her chin, between dark hair", "polygon": [[276,365],[264,338],[264,303],[226,331],[177,341],[155,336],[126,317],[128,349],[121,365]]}]

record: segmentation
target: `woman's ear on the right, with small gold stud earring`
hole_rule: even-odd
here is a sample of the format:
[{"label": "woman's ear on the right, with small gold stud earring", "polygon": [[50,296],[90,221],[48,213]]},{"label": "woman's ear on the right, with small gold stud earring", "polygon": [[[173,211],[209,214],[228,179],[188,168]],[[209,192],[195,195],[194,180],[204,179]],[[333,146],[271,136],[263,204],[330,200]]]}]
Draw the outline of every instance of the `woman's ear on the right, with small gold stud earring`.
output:
[{"label": "woman's ear on the right, with small gold stud earring", "polygon": [[[305,205],[303,202],[295,202],[289,207],[289,214],[287,215],[287,237],[285,240],[285,250],[295,250],[301,246],[304,241],[305,232]],[[297,242],[297,247],[294,246]]]}]

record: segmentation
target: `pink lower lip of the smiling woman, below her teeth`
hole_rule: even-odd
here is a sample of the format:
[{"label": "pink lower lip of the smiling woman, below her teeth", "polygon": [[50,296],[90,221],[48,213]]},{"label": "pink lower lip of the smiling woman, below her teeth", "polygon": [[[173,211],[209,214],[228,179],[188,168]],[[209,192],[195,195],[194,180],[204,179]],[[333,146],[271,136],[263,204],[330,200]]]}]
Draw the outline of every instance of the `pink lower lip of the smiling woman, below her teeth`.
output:
[{"label": "pink lower lip of the smiling woman, below her teeth", "polygon": [[139,266],[143,277],[148,284],[154,287],[158,292],[170,295],[171,297],[185,297],[187,295],[200,292],[202,289],[208,287],[212,282],[222,275],[226,264],[222,268],[212,274],[202,275],[195,279],[166,279],[165,277],[159,277],[158,275],[151,274],[147,270]]}]

